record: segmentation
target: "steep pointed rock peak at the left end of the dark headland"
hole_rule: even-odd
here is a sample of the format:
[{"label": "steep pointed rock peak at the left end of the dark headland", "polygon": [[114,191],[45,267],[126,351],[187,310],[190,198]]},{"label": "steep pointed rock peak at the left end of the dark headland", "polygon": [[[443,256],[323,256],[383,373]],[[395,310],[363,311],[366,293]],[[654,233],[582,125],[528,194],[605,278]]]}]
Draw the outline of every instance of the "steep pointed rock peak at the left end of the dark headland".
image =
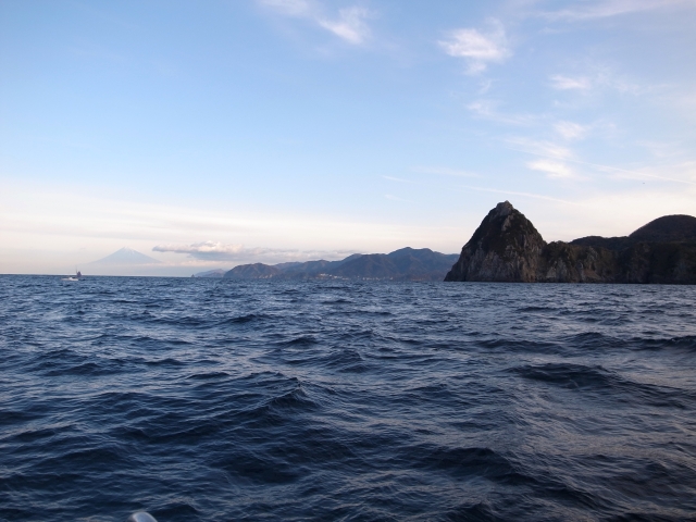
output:
[{"label": "steep pointed rock peak at the left end of the dark headland", "polygon": [[509,201],[498,203],[461,250],[445,281],[533,283],[546,241]]}]

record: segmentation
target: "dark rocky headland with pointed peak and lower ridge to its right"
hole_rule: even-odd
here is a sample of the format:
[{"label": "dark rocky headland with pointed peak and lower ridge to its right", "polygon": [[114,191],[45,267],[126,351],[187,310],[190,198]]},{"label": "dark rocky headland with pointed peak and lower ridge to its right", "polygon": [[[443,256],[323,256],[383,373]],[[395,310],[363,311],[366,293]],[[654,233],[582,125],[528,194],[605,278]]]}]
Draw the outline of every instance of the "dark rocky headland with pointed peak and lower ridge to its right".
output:
[{"label": "dark rocky headland with pointed peak and lower ridge to its right", "polygon": [[659,217],[627,237],[546,244],[505,201],[483,220],[445,281],[696,284],[696,217]]}]

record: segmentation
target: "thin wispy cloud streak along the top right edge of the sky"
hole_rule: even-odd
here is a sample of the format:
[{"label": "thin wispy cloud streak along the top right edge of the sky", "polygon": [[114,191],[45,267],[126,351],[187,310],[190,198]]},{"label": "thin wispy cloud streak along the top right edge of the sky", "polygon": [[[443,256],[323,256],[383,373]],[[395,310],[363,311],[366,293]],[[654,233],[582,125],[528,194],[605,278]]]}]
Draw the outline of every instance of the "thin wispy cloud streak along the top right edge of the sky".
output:
[{"label": "thin wispy cloud streak along the top right edge of the sky", "polygon": [[540,15],[551,21],[581,22],[682,5],[696,7],[693,0],[599,0],[575,2],[569,9],[545,11]]}]

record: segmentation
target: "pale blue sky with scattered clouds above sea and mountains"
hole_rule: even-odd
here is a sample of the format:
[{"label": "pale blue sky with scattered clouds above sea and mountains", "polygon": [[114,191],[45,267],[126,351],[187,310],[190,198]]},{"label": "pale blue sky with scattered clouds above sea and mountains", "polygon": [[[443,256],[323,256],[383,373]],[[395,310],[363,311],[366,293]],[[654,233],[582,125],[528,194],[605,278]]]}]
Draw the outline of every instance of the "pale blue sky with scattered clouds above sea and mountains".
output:
[{"label": "pale blue sky with scattered clouds above sea and mountains", "polygon": [[696,215],[696,0],[0,0],[0,273],[455,253],[505,200]]}]

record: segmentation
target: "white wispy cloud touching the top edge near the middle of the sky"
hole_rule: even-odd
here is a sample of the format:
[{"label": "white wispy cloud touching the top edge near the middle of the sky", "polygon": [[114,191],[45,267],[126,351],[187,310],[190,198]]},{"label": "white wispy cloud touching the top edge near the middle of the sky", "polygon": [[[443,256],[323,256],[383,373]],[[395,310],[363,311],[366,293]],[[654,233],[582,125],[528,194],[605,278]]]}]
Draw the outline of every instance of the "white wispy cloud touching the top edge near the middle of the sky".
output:
[{"label": "white wispy cloud touching the top edge near the middle of the sky", "polygon": [[340,9],[335,16],[325,14],[324,7],[316,1],[309,0],[257,0],[261,5],[272,9],[275,13],[303,18],[318,27],[328,30],[341,40],[358,46],[370,37],[366,21],[373,15],[371,11],[359,5]]}]

